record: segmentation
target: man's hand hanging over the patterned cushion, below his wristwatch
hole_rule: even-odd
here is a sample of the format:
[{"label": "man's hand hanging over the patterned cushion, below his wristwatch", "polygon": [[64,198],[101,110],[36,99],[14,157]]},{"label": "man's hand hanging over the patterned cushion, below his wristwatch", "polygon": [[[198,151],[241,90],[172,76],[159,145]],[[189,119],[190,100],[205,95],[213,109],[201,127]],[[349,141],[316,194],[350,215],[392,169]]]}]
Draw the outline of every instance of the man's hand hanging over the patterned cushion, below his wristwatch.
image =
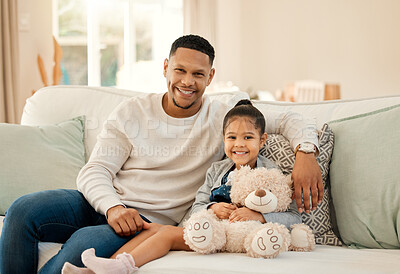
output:
[{"label": "man's hand hanging over the patterned cushion, below his wristwatch", "polygon": [[[292,179],[294,182],[294,198],[296,198],[297,210],[303,212],[302,197],[304,197],[304,209],[310,213],[310,193],[312,200],[312,209],[317,208],[324,195],[322,185],[321,170],[313,153],[296,153]],[[302,195],[303,194],[303,195]],[[292,197],[293,198],[293,197]]]}]

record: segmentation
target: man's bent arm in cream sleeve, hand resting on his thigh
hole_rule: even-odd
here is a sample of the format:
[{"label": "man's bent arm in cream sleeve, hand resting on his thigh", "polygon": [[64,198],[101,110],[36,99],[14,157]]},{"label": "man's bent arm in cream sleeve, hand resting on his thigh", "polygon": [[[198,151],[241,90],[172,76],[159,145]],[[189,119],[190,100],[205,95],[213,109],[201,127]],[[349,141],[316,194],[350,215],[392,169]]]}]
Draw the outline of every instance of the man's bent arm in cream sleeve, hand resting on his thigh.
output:
[{"label": "man's bent arm in cream sleeve, hand resting on his thigh", "polygon": [[104,124],[88,163],[79,172],[77,186],[91,206],[107,217],[118,235],[129,236],[146,228],[147,223],[137,210],[125,208],[113,186],[132,149],[117,113],[114,111]]}]

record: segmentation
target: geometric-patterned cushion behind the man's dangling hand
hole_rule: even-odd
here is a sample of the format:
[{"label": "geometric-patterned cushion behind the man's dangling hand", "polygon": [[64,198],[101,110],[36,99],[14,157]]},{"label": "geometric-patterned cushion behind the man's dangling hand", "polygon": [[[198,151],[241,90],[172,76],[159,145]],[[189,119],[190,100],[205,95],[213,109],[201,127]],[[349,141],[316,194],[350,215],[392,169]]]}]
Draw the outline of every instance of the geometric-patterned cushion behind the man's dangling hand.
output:
[{"label": "geometric-patterned cushion behind the man's dangling hand", "polygon": [[[332,231],[330,218],[331,194],[329,187],[329,164],[333,151],[333,132],[327,124],[319,132],[320,153],[317,162],[321,168],[324,185],[324,197],[322,203],[310,214],[301,213],[303,223],[311,227],[317,244],[342,245],[339,238]],[[265,146],[260,150],[261,155],[274,161],[285,174],[292,173],[295,155],[289,141],[279,134],[269,134]]]}]

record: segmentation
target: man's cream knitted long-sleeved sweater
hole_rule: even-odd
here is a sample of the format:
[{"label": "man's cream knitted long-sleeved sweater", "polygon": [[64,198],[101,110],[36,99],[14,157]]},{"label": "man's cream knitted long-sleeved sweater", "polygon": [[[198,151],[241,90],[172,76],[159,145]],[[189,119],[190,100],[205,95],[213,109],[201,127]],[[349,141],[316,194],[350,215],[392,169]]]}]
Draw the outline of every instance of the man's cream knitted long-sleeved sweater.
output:
[{"label": "man's cream knitted long-sleeved sweater", "polygon": [[[104,123],[77,179],[78,190],[96,211],[105,215],[111,207],[125,205],[152,222],[177,224],[192,205],[211,163],[222,159],[223,117],[240,98],[232,96],[222,103],[205,95],[197,114],[173,118],[164,112],[162,96],[128,99]],[[297,114],[280,114],[275,121],[289,124],[293,132],[291,119],[300,120]],[[304,128],[310,125],[297,127]],[[315,131],[315,125],[311,128]],[[280,131],[285,128],[278,126],[275,132]],[[314,135],[304,141],[317,145]]]}]

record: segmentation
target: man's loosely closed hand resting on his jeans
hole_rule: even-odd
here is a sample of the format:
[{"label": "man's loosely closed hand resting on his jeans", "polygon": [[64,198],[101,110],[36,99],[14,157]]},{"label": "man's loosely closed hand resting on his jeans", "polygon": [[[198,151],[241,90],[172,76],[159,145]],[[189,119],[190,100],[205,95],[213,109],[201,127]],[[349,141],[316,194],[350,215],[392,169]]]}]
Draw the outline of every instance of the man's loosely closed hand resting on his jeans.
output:
[{"label": "man's loosely closed hand resting on his jeans", "polygon": [[136,209],[122,205],[107,210],[107,222],[119,236],[130,236],[149,228],[149,224],[143,221]]}]

